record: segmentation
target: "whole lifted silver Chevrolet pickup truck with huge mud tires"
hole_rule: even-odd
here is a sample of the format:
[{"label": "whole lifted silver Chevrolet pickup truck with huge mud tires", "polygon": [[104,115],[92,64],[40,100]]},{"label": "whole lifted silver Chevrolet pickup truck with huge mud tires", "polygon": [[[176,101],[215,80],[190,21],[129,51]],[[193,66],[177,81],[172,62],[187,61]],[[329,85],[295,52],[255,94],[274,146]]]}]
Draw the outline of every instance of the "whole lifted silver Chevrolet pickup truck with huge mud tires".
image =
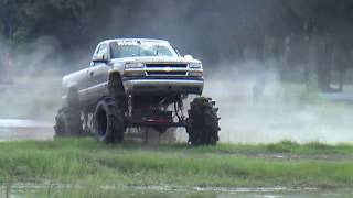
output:
[{"label": "whole lifted silver Chevrolet pickup truck with huge mud tires", "polygon": [[[215,101],[200,97],[202,63],[181,56],[167,41],[108,40],[96,47],[90,66],[63,78],[63,108],[55,135],[94,132],[98,140],[121,142],[127,128],[153,128],[163,133],[183,127],[192,145],[215,144]],[[183,102],[196,96],[184,116]]]}]

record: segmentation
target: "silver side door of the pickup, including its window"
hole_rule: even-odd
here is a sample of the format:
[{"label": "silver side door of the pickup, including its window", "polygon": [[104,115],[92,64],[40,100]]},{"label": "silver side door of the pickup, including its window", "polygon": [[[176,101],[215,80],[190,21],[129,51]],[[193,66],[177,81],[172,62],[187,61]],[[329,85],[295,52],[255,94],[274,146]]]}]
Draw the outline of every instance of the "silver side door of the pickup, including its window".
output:
[{"label": "silver side door of the pickup, including its window", "polygon": [[98,100],[99,97],[107,95],[108,73],[110,66],[109,62],[109,48],[107,43],[99,45],[95,53],[98,57],[104,57],[105,61],[95,61],[90,63],[87,77],[87,100]]}]

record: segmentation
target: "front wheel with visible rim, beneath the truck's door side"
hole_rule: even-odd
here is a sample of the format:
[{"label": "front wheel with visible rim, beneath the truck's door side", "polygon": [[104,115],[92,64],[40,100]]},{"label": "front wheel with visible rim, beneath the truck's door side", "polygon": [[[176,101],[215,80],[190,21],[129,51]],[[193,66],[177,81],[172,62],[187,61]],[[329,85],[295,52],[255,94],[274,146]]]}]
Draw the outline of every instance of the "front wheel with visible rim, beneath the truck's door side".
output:
[{"label": "front wheel with visible rim, beneath the truck's door side", "polygon": [[95,110],[93,130],[101,142],[121,142],[126,131],[125,107],[111,97],[103,98]]}]

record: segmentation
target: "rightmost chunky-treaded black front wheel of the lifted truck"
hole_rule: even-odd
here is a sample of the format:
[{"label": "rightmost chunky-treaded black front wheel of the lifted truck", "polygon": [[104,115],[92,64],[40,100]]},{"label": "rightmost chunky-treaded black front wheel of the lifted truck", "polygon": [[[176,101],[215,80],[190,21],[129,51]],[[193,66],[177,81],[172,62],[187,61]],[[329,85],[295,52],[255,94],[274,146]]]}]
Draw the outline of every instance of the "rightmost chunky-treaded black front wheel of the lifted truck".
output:
[{"label": "rightmost chunky-treaded black front wheel of the lifted truck", "polygon": [[215,145],[218,141],[218,109],[208,98],[195,98],[191,105],[186,132],[192,145]]}]

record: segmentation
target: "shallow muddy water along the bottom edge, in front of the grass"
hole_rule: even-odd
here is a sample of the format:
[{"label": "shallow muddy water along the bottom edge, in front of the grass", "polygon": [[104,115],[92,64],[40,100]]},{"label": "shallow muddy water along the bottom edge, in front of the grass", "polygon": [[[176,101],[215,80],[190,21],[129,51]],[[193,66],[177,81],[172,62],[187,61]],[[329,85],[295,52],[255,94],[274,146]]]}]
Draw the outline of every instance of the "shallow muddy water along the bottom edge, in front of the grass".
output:
[{"label": "shallow muddy water along the bottom edge, in front of the grass", "polygon": [[[2,186],[2,196],[9,197],[71,197],[78,195],[85,197],[87,189],[85,187],[74,188],[67,185],[31,185],[31,184],[18,184],[9,186]],[[86,191],[86,193],[85,193]],[[89,190],[88,190],[89,191]],[[345,198],[352,197],[352,189],[336,189],[336,190],[320,190],[320,189],[287,189],[287,188],[194,188],[194,189],[170,189],[164,187],[131,187],[131,189],[116,189],[111,187],[100,187],[89,195],[96,195],[97,197],[111,197],[111,195],[118,197],[165,197],[165,198],[191,198],[191,197],[205,197],[205,198],[232,198],[232,197],[245,197],[245,198],[322,198],[334,197]],[[1,195],[0,195],[1,196]],[[77,197],[77,196],[76,196]]]}]

